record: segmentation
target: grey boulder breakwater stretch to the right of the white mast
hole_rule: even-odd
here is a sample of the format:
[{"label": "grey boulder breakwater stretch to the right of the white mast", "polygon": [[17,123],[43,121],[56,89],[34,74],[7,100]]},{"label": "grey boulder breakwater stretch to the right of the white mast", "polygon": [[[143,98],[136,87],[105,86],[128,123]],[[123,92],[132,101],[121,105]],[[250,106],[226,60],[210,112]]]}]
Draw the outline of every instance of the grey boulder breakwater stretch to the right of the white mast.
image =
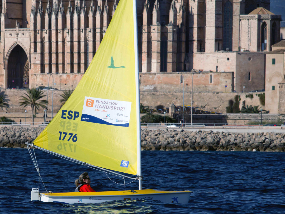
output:
[{"label": "grey boulder breakwater stretch to the right of the white mast", "polygon": [[284,152],[283,133],[141,130],[142,150]]}]

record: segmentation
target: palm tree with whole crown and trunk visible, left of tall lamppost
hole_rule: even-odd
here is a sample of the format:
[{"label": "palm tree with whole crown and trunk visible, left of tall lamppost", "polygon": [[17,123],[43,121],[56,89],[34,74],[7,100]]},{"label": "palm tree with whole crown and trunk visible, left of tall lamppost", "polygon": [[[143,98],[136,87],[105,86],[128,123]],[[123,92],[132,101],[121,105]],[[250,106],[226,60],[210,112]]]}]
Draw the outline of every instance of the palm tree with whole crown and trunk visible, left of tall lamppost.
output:
[{"label": "palm tree with whole crown and trunk visible, left of tall lamppost", "polygon": [[27,89],[27,94],[25,93],[25,96],[21,96],[22,97],[21,100],[23,101],[19,102],[20,106],[26,107],[27,105],[31,105],[32,115],[33,115],[33,125],[34,125],[34,108],[35,110],[39,110],[39,107],[46,108],[46,104],[48,104],[48,101],[46,100],[39,100],[44,96],[46,95],[43,95],[43,92],[36,88]]}]

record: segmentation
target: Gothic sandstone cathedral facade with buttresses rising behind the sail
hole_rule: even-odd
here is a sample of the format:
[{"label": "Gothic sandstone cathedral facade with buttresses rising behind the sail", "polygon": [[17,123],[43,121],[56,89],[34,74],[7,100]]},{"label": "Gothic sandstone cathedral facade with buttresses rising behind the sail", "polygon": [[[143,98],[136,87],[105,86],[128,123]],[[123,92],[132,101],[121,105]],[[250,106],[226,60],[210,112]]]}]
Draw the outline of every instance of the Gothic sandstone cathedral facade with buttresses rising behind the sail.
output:
[{"label": "Gothic sandstone cathedral facade with buttresses rising behind the sail", "polygon": [[[118,3],[3,0],[1,87],[47,86],[46,74],[52,73],[56,74],[57,88],[74,88],[96,53]],[[281,17],[269,8],[270,0],[137,1],[139,70],[149,74],[192,69],[233,72],[232,91],[262,89],[262,54],[266,50],[260,49],[260,39],[264,23],[268,26],[268,50],[280,39]]]}]

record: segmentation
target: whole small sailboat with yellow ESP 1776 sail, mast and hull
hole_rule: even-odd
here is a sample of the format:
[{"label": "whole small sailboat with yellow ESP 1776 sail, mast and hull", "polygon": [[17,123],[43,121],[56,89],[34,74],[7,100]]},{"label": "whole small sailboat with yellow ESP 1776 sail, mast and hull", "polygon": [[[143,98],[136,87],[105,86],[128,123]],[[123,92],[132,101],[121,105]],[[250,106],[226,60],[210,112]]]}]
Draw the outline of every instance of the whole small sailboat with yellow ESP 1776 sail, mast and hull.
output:
[{"label": "whole small sailboat with yellow ESP 1776 sail, mast and hull", "polygon": [[188,203],[192,191],[142,189],[136,8],[136,0],[119,1],[78,86],[34,142],[26,144],[38,173],[34,148],[138,180],[139,189],[54,193],[33,188],[31,200],[68,204],[139,199]]}]

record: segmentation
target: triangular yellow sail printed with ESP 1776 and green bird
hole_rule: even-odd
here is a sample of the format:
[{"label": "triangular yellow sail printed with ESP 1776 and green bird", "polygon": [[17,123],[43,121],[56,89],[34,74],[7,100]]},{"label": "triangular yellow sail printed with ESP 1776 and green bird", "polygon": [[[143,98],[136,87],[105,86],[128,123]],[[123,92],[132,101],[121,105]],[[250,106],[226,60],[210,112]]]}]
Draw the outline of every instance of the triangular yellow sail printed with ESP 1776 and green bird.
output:
[{"label": "triangular yellow sail printed with ESP 1776 and green bird", "polygon": [[34,145],[136,175],[135,84],[133,0],[121,0],[86,73]]}]

